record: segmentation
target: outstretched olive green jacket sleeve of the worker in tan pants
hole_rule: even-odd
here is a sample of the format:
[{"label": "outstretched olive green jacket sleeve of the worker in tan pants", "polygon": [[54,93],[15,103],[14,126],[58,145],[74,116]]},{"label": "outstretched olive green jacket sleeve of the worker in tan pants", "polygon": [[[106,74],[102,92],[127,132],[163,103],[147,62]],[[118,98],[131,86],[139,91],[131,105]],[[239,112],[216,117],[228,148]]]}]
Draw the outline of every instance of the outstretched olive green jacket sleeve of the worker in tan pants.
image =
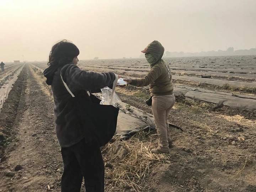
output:
[{"label": "outstretched olive green jacket sleeve of the worker in tan pants", "polygon": [[153,83],[161,75],[161,67],[159,65],[153,66],[144,78],[132,79],[131,85],[137,87],[148,86]]}]

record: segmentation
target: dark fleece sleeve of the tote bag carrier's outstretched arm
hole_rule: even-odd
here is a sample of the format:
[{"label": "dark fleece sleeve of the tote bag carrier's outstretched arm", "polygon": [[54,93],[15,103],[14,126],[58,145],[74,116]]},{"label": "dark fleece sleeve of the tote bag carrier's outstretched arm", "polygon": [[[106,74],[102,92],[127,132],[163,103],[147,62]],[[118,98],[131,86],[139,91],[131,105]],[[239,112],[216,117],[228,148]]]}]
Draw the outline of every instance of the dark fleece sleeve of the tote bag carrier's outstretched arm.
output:
[{"label": "dark fleece sleeve of the tote bag carrier's outstretched arm", "polygon": [[111,85],[116,78],[112,72],[97,73],[86,71],[74,64],[65,66],[61,73],[71,92],[77,90],[99,90]]}]

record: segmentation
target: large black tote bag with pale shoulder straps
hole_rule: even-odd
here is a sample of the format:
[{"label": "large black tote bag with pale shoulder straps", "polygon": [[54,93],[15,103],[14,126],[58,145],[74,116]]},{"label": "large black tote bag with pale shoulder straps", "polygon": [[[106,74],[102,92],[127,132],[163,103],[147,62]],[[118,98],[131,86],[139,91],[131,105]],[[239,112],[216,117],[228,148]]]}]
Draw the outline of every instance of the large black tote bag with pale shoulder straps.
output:
[{"label": "large black tote bag with pale shoulder straps", "polygon": [[100,105],[101,100],[92,94],[89,94],[91,101],[84,97],[75,97],[64,81],[63,84],[72,96],[68,102],[72,102],[77,109],[76,115],[84,129],[87,142],[96,143],[99,146],[106,145],[116,132],[119,108]]}]

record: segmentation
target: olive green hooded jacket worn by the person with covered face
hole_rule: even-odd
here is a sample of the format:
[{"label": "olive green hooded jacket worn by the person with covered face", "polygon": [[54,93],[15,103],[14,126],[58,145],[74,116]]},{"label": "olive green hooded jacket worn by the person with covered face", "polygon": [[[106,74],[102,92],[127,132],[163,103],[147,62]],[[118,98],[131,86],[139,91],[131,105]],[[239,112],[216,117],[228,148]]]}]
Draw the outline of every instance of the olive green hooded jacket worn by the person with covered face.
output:
[{"label": "olive green hooded jacket worn by the person with covered face", "polygon": [[149,85],[151,96],[173,94],[172,75],[169,65],[162,60],[164,47],[158,41],[151,42],[145,48],[157,60],[150,71],[141,79],[133,79],[131,85],[144,87]]}]

